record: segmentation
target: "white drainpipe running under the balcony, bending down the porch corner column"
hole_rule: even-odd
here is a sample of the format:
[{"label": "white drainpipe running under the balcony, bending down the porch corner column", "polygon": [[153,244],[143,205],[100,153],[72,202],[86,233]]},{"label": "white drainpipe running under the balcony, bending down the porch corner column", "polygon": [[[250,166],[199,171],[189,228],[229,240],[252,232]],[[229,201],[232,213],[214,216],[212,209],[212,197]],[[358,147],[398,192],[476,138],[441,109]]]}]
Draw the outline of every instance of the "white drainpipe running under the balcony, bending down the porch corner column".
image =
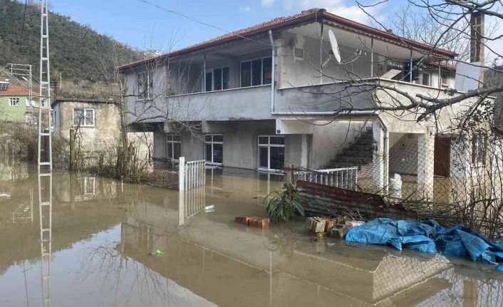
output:
[{"label": "white drainpipe running under the balcony, bending down the porch corner column", "polygon": [[[314,111],[314,112],[271,112],[272,115],[335,115],[333,111]],[[384,162],[384,192],[388,194],[388,184],[389,184],[389,170],[390,170],[390,132],[388,125],[384,121],[383,117],[377,111],[345,111],[338,113],[338,115],[361,115],[361,116],[375,116],[378,118],[380,126],[384,130],[383,137],[383,162]]]}]

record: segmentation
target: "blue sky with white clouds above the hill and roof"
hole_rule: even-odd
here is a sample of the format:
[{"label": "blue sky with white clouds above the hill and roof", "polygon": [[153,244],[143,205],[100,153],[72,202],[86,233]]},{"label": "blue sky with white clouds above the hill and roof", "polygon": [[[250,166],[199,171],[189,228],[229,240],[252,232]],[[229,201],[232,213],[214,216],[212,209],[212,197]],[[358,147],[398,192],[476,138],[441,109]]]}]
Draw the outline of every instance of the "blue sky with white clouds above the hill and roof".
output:
[{"label": "blue sky with white clouds above the hill and roof", "polygon": [[[98,33],[112,36],[138,50],[162,52],[315,7],[363,24],[370,23],[356,0],[49,0],[49,3],[51,11],[70,16]],[[366,10],[387,24],[393,13],[406,3],[405,0],[388,0]],[[491,19],[486,19],[486,24],[490,22]],[[503,34],[503,27],[498,33]],[[502,53],[503,39],[489,42],[489,46]],[[486,58],[491,57],[488,53],[486,48]]]}]

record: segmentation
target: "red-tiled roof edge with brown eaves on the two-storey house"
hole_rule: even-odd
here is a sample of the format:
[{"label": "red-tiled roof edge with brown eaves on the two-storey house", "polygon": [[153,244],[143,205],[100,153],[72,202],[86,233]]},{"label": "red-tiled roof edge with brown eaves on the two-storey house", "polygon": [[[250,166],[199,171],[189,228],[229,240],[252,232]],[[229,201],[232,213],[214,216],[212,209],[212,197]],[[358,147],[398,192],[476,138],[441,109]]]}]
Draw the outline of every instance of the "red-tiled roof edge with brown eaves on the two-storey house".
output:
[{"label": "red-tiled roof edge with brown eaves on the two-storey house", "polygon": [[283,28],[286,26],[290,26],[293,24],[301,24],[304,21],[316,21],[316,19],[321,19],[325,21],[333,21],[336,24],[340,25],[341,28],[346,30],[352,30],[358,33],[366,34],[368,36],[375,36],[376,38],[383,39],[385,41],[390,41],[393,43],[397,43],[400,45],[412,46],[413,48],[420,48],[427,51],[434,50],[435,53],[438,53],[442,56],[454,57],[457,54],[453,51],[448,51],[442,48],[434,48],[425,43],[420,43],[418,41],[412,41],[408,38],[403,38],[397,36],[393,33],[379,30],[378,28],[373,28],[371,26],[366,26],[365,24],[360,24],[356,21],[351,21],[350,19],[343,18],[341,16],[337,16],[335,14],[328,13],[325,9],[309,9],[307,11],[302,11],[299,14],[295,14],[292,16],[284,16],[278,17],[275,19],[271,19],[270,21],[263,22],[261,24],[256,24],[254,26],[250,26],[248,28],[242,28],[241,30],[237,30],[234,32],[226,33],[222,36],[217,36],[215,38],[209,39],[208,41],[203,41],[202,43],[196,43],[195,45],[188,46],[185,48],[178,49],[177,51],[172,51],[170,53],[162,54],[161,56],[156,56],[153,58],[146,58],[140,61],[135,61],[132,63],[128,63],[122,66],[118,66],[119,71],[125,71],[128,68],[133,68],[142,63],[150,63],[152,61],[159,61],[164,58],[172,57],[172,56],[180,56],[183,53],[188,53],[192,51],[197,51],[202,48],[208,48],[210,46],[215,46],[219,43],[224,43],[227,41],[237,40],[244,37],[250,37],[254,35],[258,35],[261,33],[265,33],[269,30],[274,30],[276,28]]}]

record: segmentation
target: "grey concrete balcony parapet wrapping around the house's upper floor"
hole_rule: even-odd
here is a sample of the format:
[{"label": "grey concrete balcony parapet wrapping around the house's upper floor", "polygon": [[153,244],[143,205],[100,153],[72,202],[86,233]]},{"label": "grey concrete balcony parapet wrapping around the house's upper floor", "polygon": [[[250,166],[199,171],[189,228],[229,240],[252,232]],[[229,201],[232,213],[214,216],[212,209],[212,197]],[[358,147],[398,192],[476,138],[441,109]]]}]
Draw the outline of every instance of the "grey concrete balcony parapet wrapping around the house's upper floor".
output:
[{"label": "grey concrete balcony parapet wrapping around the house's upper floor", "polygon": [[[443,90],[425,85],[382,78],[370,78],[365,82],[393,86],[411,95],[422,93],[437,98],[447,97]],[[393,91],[375,90],[369,85],[351,88],[347,85],[346,82],[338,82],[277,89],[272,114],[271,85],[170,95],[148,103],[134,101],[130,102],[130,110],[134,110],[145,122],[162,122],[165,118],[178,121],[271,120],[276,115],[312,115],[333,112],[341,109],[341,106],[348,108],[349,105],[353,108],[370,108],[376,105],[376,97],[381,105],[393,103],[394,99],[405,99]]]}]

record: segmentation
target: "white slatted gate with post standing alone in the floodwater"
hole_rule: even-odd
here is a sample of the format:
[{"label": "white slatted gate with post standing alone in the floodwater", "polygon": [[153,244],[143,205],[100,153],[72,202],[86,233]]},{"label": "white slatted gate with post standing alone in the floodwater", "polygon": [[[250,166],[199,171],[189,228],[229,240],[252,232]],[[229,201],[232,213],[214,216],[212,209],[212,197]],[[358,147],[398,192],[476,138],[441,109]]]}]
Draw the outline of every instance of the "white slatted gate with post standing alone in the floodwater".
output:
[{"label": "white slatted gate with post standing alone in the floodwater", "polygon": [[206,161],[185,162],[185,157],[178,160],[179,189],[186,191],[206,184]]}]

